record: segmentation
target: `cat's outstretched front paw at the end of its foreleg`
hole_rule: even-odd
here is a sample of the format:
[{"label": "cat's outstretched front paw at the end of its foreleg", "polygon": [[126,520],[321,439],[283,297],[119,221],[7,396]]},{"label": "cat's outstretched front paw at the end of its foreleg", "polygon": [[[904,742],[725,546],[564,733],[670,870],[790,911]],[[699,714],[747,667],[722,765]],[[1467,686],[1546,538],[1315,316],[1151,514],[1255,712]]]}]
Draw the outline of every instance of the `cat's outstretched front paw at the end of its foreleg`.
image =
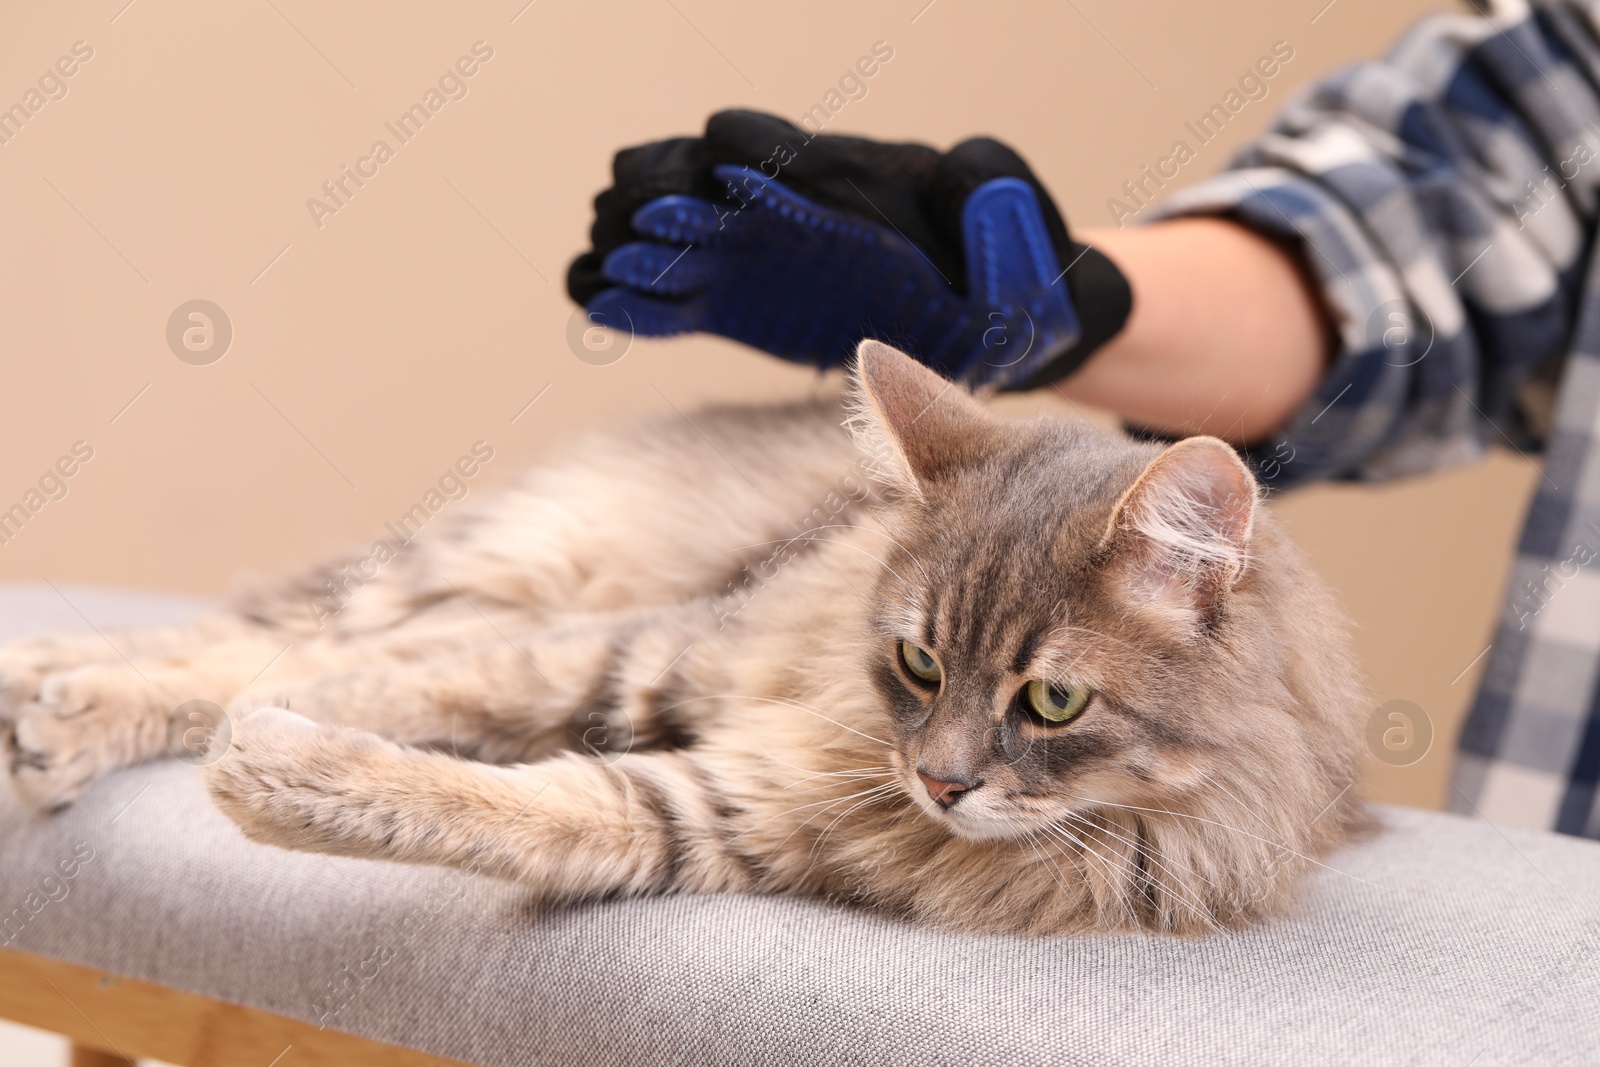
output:
[{"label": "cat's outstretched front paw at the end of its foreleg", "polygon": [[216,806],[254,841],[366,854],[363,798],[384,789],[381,765],[394,749],[376,734],[262,707],[234,723],[227,753],[202,774]]}]

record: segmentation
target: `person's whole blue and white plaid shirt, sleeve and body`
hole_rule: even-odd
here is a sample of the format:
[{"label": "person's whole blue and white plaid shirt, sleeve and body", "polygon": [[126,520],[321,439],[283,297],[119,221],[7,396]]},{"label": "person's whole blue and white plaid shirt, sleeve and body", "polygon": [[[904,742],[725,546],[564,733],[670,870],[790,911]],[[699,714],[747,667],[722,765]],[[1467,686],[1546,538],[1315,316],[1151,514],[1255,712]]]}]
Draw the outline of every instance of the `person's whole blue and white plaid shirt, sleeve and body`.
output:
[{"label": "person's whole blue and white plaid shirt, sleeve and body", "polygon": [[1435,16],[1301,94],[1162,216],[1298,248],[1338,333],[1250,450],[1269,486],[1542,453],[1451,803],[1600,837],[1600,8]]}]

